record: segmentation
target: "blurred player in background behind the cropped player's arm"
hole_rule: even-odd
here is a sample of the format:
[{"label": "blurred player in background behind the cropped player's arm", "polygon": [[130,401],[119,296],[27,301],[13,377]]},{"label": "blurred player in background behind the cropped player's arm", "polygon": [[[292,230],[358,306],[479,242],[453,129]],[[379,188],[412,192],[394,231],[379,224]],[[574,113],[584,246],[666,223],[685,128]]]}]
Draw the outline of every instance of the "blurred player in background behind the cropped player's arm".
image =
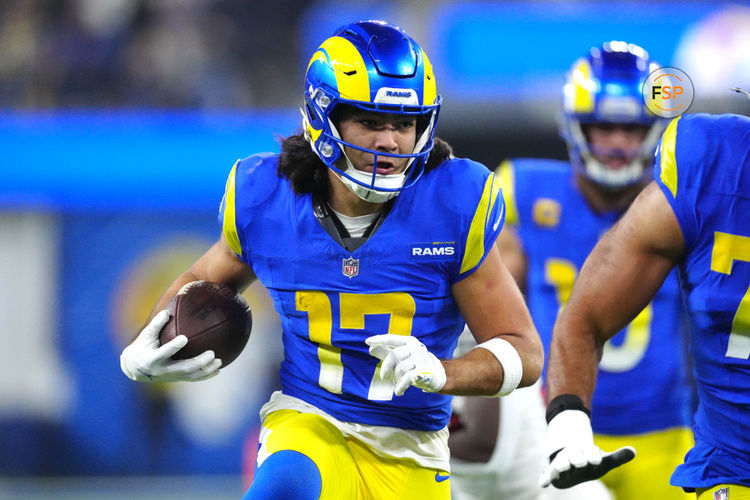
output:
[{"label": "blurred player in background behind the cropped player's arm", "polygon": [[[509,222],[500,236],[503,259],[525,288],[547,349],[586,256],[651,175],[664,129],[641,98],[653,69],[638,46],[592,48],[573,64],[563,90],[561,135],[570,162],[519,159],[498,168]],[[595,442],[607,450],[633,443],[639,451],[603,479],[620,500],[640,498],[644,490],[652,498],[686,496],[669,485],[692,443],[684,326],[672,273],[603,348],[591,403]]]}]

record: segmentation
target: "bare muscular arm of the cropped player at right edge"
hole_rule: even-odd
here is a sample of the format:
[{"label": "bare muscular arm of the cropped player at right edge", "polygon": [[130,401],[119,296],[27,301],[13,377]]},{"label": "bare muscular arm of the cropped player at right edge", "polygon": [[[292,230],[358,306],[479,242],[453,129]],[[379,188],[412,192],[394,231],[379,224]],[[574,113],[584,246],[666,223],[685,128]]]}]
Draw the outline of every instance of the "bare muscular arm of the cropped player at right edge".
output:
[{"label": "bare muscular arm of the cropped player at right edge", "polygon": [[590,404],[604,343],[648,305],[681,255],[663,198],[646,188],[586,259],[552,333],[549,399],[572,393]]}]

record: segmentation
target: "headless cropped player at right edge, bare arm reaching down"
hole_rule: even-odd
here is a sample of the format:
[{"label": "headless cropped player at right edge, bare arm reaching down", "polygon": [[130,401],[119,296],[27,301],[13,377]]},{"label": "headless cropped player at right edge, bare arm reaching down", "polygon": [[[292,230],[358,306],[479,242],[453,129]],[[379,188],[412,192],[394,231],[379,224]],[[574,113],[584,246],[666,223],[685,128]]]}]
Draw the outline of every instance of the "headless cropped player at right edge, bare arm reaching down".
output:
[{"label": "headless cropped player at right edge, bare arm reaching down", "polygon": [[596,365],[604,343],[675,267],[692,324],[698,408],[695,446],[671,482],[699,500],[750,498],[750,120],[737,115],[673,120],[655,180],[587,258],[555,325],[547,410],[555,456],[542,483],[585,481],[632,457],[630,448],[609,454],[591,441]]}]

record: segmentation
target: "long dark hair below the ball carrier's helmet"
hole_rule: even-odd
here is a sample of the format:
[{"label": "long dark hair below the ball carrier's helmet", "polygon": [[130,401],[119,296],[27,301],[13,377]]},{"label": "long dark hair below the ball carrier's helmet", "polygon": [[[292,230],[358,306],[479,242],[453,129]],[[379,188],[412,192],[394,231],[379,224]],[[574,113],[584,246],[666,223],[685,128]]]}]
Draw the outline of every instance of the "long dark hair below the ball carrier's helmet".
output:
[{"label": "long dark hair below the ball carrier's helmet", "polygon": [[[450,144],[435,137],[435,145],[424,167],[425,173],[447,160],[452,152]],[[295,193],[313,193],[328,199],[331,189],[328,167],[310,148],[302,132],[281,141],[278,173],[289,179]]]}]

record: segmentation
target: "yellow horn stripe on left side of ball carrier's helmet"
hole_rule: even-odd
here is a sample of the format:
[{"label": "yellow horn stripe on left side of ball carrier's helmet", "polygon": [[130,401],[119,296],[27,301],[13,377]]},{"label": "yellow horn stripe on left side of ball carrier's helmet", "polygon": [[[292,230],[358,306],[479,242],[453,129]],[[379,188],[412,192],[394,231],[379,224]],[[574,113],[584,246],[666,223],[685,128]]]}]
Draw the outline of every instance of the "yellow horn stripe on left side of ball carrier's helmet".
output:
[{"label": "yellow horn stripe on left side of ball carrier's helmet", "polygon": [[[325,50],[330,58],[333,74],[336,76],[336,87],[341,97],[369,102],[370,80],[367,76],[367,67],[354,44],[346,38],[333,36],[321,44],[318,52],[321,50]],[[315,56],[313,59],[316,59]]]}]

